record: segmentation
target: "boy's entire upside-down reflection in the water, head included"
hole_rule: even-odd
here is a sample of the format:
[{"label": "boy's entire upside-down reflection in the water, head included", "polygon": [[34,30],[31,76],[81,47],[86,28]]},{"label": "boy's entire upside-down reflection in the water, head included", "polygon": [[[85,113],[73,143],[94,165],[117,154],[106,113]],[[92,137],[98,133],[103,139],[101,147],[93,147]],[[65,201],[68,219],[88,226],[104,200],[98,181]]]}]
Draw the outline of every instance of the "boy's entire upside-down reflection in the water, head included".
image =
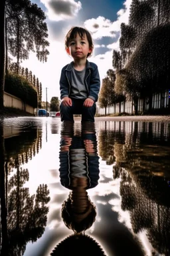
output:
[{"label": "boy's entire upside-down reflection in the water, head included", "polygon": [[84,131],[72,138],[64,134],[60,149],[60,181],[72,190],[62,203],[62,219],[68,229],[81,233],[90,228],[96,218],[96,207],[86,192],[95,187],[99,179],[96,135],[94,131]]}]

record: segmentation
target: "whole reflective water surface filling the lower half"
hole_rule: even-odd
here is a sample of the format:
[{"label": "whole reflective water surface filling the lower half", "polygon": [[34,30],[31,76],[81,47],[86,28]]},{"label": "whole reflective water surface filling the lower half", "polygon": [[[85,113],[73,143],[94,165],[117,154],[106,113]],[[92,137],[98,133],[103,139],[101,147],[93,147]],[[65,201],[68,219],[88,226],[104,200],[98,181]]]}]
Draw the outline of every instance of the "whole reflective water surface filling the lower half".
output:
[{"label": "whole reflective water surface filling the lower half", "polygon": [[170,255],[169,142],[162,120],[1,120],[1,255]]}]

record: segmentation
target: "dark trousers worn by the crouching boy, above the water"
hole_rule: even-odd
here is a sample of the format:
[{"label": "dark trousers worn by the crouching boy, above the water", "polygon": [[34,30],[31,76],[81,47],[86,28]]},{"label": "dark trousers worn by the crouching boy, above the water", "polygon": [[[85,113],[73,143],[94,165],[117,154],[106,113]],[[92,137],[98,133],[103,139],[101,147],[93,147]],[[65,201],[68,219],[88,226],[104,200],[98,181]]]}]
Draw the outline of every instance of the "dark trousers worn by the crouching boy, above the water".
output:
[{"label": "dark trousers worn by the crouching boy, above the water", "polygon": [[82,121],[94,122],[96,114],[96,103],[92,107],[84,107],[85,99],[72,99],[72,106],[64,106],[60,103],[61,121],[74,121],[73,115],[82,115]]}]

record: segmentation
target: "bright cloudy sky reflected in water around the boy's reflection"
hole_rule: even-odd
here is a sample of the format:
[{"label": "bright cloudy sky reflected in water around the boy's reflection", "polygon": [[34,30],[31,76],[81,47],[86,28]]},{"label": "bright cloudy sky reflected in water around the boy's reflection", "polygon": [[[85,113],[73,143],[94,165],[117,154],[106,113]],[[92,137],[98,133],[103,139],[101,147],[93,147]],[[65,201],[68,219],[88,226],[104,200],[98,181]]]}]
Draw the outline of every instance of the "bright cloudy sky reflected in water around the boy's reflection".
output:
[{"label": "bright cloudy sky reflected in water around the boy's reflection", "polygon": [[[55,119],[55,127],[58,123],[57,133],[51,133],[50,122],[54,121],[49,119],[48,123],[42,126],[42,148],[39,150],[39,154],[35,155],[25,165],[21,165],[21,167],[29,169],[29,181],[25,183],[25,187],[29,187],[31,195],[36,193],[37,187],[42,183],[47,184],[50,190],[46,229],[37,243],[27,244],[24,256],[47,256],[59,241],[72,234],[72,231],[65,227],[60,217],[62,202],[67,199],[70,192],[62,187],[58,175],[60,122]],[[99,184],[92,189],[88,189],[88,195],[96,205],[97,216],[94,225],[86,231],[86,234],[94,237],[100,243],[108,256],[112,255],[112,235],[114,236],[116,232],[133,234],[129,213],[121,209],[120,179],[113,179],[112,168],[113,165],[106,165],[106,162],[100,158]],[[150,256],[151,247],[147,242],[145,233],[140,233],[138,239],[145,247],[147,255]],[[122,240],[122,243],[124,243],[124,240]]]}]

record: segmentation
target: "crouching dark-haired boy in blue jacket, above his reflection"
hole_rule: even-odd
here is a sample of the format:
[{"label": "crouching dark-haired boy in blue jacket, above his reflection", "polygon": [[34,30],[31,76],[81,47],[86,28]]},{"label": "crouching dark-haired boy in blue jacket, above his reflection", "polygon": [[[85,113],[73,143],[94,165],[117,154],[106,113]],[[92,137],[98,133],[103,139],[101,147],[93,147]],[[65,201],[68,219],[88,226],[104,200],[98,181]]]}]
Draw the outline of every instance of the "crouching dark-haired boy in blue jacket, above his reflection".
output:
[{"label": "crouching dark-haired boy in blue jacket, above his reflection", "polygon": [[94,49],[92,37],[86,29],[72,27],[65,48],[73,61],[62,68],[60,76],[61,121],[74,122],[73,115],[81,114],[82,121],[94,122],[100,76],[97,65],[87,60]]}]

